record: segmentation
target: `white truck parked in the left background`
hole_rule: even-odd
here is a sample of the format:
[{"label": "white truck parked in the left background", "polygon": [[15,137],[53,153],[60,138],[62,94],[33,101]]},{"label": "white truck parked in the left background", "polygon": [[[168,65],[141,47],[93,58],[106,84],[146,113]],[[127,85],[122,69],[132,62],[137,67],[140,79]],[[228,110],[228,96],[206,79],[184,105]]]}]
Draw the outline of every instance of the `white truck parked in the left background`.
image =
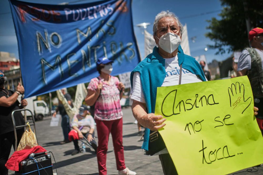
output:
[{"label": "white truck parked in the left background", "polygon": [[[49,115],[48,105],[45,101],[36,100],[36,99],[37,99],[36,96],[26,98],[27,100],[26,109],[29,109],[32,111],[36,120],[43,120],[44,116]],[[18,101],[19,102],[21,101],[21,96],[19,96]],[[22,112],[22,114],[24,115],[24,112]],[[26,114],[27,114],[27,117],[31,116],[31,113],[29,111],[26,111]]]}]

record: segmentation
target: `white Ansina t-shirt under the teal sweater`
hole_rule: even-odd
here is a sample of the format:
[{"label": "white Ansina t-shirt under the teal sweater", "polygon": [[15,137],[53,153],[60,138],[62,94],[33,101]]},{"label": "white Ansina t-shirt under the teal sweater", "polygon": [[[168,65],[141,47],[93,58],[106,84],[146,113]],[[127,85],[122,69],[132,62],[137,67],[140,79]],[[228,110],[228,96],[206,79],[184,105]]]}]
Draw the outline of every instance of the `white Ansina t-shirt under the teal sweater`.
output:
[{"label": "white Ansina t-shirt under the teal sweater", "polygon": [[[162,86],[173,86],[179,84],[180,66],[178,64],[177,55],[173,58],[165,59],[165,72],[166,72],[166,76],[164,78],[164,82]],[[196,83],[201,81],[202,80],[198,76],[182,68],[181,84]],[[133,88],[132,88],[131,99],[145,103],[139,72],[134,72],[133,75]],[[168,153],[167,148],[157,152],[154,155],[166,154],[166,153]]]}]

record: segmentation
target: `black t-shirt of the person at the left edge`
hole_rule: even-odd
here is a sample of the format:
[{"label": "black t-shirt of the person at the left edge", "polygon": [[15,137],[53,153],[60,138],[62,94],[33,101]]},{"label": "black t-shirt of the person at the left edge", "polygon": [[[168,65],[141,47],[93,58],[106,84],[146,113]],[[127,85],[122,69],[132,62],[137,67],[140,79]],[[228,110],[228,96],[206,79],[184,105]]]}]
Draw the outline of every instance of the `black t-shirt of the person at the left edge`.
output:
[{"label": "black t-shirt of the person at the left edge", "polygon": [[[5,96],[6,98],[8,98],[8,96],[12,96],[14,92],[7,90],[7,89],[0,89],[0,98]],[[7,95],[8,94],[8,95]],[[14,110],[17,109],[21,109],[19,107],[19,102],[18,100],[10,107],[3,107],[0,106],[0,135],[7,133],[7,132],[11,132],[14,131],[14,126],[13,126],[13,121],[11,118],[11,114]],[[23,115],[21,114],[21,112],[16,112],[14,113],[14,118],[16,121],[16,125],[20,126],[20,125],[24,125],[24,119],[23,119]],[[19,129],[19,128],[17,128]]]}]

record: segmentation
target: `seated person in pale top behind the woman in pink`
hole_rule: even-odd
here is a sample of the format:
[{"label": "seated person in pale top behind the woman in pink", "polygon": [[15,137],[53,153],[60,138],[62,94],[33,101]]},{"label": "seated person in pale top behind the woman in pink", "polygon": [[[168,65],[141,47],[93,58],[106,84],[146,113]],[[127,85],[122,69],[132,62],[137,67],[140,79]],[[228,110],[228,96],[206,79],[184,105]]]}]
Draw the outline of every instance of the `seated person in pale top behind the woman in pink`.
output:
[{"label": "seated person in pale top behind the woman in pink", "polygon": [[[87,106],[82,105],[79,108],[79,114],[75,114],[72,122],[72,129],[78,132],[79,139],[83,139],[85,136],[92,148],[97,152],[97,142],[94,140],[94,129],[95,129],[95,121],[93,117],[90,115]],[[73,139],[75,150],[71,155],[75,155],[79,153],[79,145],[78,140]]]}]

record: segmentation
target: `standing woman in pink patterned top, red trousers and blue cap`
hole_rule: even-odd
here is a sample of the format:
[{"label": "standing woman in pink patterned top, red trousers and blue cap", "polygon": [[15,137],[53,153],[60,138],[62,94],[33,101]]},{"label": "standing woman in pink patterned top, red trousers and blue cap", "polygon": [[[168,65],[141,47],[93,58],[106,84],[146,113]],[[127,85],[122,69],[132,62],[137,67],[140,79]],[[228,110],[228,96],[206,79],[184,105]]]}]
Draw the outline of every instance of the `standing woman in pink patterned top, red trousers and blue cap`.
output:
[{"label": "standing woman in pink patterned top, red trousers and blue cap", "polygon": [[112,134],[118,174],[135,175],[125,167],[124,149],[122,144],[122,108],[120,99],[124,92],[124,85],[117,77],[110,75],[112,72],[111,60],[99,58],[97,70],[99,77],[90,80],[88,95],[85,98],[87,105],[95,104],[94,119],[97,124],[98,148],[97,160],[99,174],[107,174],[106,154],[108,150],[109,134]]}]

